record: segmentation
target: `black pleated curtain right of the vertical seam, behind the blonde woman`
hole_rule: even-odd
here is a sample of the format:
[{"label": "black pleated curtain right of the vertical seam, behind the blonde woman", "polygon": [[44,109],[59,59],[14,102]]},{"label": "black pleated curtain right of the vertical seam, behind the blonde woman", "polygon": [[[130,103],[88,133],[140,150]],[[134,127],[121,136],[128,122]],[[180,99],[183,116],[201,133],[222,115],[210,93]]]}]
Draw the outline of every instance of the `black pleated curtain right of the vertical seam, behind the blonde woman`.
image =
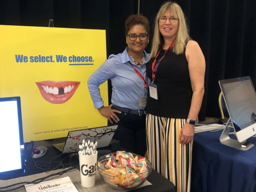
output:
[{"label": "black pleated curtain right of the vertical seam, behind the blonde woman", "polygon": [[[151,20],[164,0],[141,0],[140,12]],[[176,0],[206,59],[205,95],[199,120],[220,118],[219,80],[250,76],[256,85],[256,1]],[[152,33],[151,33],[152,37]],[[147,47],[148,51],[150,45]]]}]

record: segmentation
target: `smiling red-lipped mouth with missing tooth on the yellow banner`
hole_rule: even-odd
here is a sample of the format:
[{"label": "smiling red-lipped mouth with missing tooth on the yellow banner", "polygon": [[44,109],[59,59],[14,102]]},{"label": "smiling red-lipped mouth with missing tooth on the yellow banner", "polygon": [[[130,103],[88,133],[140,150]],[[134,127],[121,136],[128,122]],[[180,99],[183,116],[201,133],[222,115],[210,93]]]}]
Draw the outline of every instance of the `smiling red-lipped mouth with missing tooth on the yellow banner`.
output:
[{"label": "smiling red-lipped mouth with missing tooth on the yellow banner", "polygon": [[54,104],[62,104],[74,95],[80,82],[77,81],[41,81],[36,82],[43,98]]}]

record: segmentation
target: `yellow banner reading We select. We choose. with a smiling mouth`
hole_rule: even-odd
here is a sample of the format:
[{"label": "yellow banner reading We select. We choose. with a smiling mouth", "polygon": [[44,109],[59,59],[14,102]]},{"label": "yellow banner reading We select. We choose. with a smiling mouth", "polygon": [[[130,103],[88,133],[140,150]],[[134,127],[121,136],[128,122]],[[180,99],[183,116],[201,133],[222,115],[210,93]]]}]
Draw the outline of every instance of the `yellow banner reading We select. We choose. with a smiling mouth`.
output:
[{"label": "yellow banner reading We select. We choose. with a smiling mouth", "polygon": [[[107,125],[87,87],[106,60],[105,30],[0,25],[0,32],[0,97],[21,97],[24,142]],[[108,101],[107,82],[100,89]]]}]

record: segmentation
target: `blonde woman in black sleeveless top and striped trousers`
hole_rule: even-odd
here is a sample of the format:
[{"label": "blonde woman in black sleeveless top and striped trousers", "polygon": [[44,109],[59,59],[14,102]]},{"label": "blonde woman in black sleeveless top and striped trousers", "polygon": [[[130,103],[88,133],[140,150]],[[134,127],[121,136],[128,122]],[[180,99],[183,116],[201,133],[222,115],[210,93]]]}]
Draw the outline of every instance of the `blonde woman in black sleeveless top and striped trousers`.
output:
[{"label": "blonde woman in black sleeveless top and striped trousers", "polygon": [[205,59],[197,42],[190,39],[177,3],[166,2],[155,18],[146,74],[150,79],[146,104],[148,158],[153,169],[173,182],[178,192],[189,192]]}]

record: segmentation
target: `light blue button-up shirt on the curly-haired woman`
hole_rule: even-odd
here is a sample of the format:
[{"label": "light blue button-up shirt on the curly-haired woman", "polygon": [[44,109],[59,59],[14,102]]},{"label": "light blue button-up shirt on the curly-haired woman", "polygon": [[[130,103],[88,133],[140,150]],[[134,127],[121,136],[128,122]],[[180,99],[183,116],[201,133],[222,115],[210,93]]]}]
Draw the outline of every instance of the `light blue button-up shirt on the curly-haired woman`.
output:
[{"label": "light blue button-up shirt on the curly-haired woman", "polygon": [[[111,79],[113,86],[111,102],[114,105],[130,110],[144,109],[144,107],[138,107],[140,97],[145,96],[144,81],[135,73],[133,67],[137,69],[145,79],[146,62],[148,62],[149,54],[144,50],[145,61],[142,67],[138,68],[127,51],[128,47],[123,53],[110,55],[88,79],[87,85],[96,109],[103,106],[99,86],[108,79]],[[133,67],[128,61],[133,64]]]}]

